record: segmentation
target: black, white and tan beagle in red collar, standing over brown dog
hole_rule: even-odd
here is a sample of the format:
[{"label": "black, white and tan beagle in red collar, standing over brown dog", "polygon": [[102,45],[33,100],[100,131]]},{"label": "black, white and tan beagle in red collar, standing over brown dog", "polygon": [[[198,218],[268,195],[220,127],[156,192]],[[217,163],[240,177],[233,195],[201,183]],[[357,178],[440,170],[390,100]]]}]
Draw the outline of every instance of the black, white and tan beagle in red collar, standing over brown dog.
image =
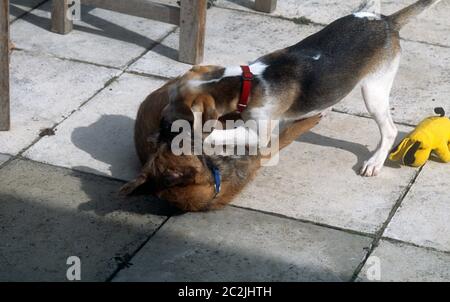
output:
[{"label": "black, white and tan beagle in red collar, standing over brown dog", "polygon": [[[389,94],[400,64],[399,31],[439,1],[420,0],[390,16],[355,13],[293,46],[257,59],[249,65],[254,78],[248,106],[242,112],[244,121],[286,123],[313,116],[359,85],[381,133],[378,148],[364,163],[361,175],[377,175],[397,136]],[[198,111],[203,112],[204,120],[236,111],[242,97],[242,73],[240,66],[194,67],[171,89],[171,102],[163,112],[162,135],[169,135],[175,120],[193,122],[195,108],[201,108]],[[242,137],[248,131],[215,130],[207,141],[224,144],[230,136]]]}]

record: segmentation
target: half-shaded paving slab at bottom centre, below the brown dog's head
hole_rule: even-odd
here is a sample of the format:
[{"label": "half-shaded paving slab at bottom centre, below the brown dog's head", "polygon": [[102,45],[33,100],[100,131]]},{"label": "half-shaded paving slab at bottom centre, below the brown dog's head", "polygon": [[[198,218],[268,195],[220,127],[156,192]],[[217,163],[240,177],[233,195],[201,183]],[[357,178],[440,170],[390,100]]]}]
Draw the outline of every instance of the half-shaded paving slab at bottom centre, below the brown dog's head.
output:
[{"label": "half-shaded paving slab at bottom centre, below the brown dog's head", "polygon": [[348,281],[370,243],[228,207],[170,218],[113,281]]}]

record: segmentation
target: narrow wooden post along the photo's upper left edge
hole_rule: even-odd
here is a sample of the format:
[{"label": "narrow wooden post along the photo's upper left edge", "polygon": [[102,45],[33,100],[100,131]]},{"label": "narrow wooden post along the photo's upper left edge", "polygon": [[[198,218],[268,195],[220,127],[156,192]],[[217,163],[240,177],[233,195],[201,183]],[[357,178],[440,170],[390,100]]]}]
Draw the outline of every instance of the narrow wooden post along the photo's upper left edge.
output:
[{"label": "narrow wooden post along the photo's upper left edge", "polygon": [[0,1],[0,131],[10,128],[9,0]]}]

